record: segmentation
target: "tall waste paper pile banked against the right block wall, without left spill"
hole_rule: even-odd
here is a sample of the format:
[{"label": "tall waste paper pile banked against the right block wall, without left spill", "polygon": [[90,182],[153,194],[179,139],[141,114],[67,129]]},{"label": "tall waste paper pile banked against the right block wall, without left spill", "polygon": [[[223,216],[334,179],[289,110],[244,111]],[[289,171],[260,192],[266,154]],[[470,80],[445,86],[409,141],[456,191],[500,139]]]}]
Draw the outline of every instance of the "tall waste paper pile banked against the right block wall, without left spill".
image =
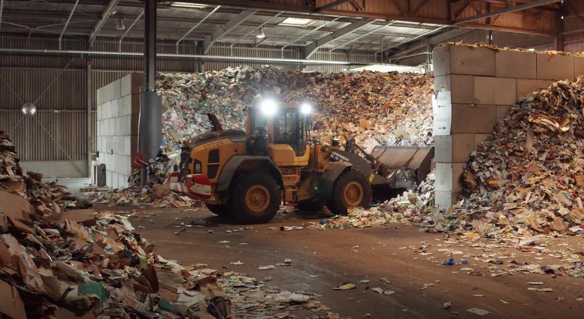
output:
[{"label": "tall waste paper pile banked against the right block wall, without left spill", "polygon": [[458,206],[490,222],[477,225],[481,234],[582,231],[583,96],[581,78],[530,93],[472,152],[463,175],[470,197]]}]

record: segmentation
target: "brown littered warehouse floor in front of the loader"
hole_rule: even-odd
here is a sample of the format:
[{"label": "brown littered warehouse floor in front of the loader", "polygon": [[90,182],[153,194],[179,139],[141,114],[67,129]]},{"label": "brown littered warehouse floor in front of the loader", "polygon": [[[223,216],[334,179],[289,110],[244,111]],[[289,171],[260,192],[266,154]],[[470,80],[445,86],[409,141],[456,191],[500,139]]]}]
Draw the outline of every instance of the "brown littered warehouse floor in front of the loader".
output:
[{"label": "brown littered warehouse floor in front of the loader", "polygon": [[[134,209],[136,207],[96,206],[98,211],[129,212]],[[291,292],[303,290],[320,294],[322,303],[332,308],[331,311],[354,319],[367,313],[371,314],[371,318],[481,317],[468,313],[466,310],[469,308],[492,311],[492,314],[486,315],[491,318],[560,318],[580,315],[584,307],[584,301],[576,300],[584,293],[582,278],[552,278],[551,275],[536,274],[492,277],[487,269],[482,268],[485,263],[475,261],[472,257],[468,258],[468,265],[436,266],[435,262],[425,260],[427,256],[402,248],[418,246],[422,241],[434,245],[442,242],[443,235],[423,233],[416,226],[391,224],[390,228],[279,230],[280,226],[296,226],[331,216],[323,211],[313,216],[285,214],[277,216],[269,224],[252,225],[251,229],[225,233],[226,230],[237,230],[241,226],[230,224],[207,209],[138,211],[161,212],[159,216],[149,216],[144,221],[133,221],[133,226],[142,231],[148,241],[157,242],[155,252],[164,258],[186,264],[207,263],[213,269],[228,266],[231,271],[244,272],[259,280],[271,276],[271,285]],[[175,231],[183,227],[178,224],[189,224],[192,221],[204,227],[186,227],[180,235],[175,235]],[[269,230],[269,227],[277,227],[277,230]],[[208,233],[210,230],[213,230],[212,234]],[[580,237],[558,238],[552,245],[570,242],[572,247],[576,247],[580,245],[579,240]],[[221,244],[220,241],[230,243]],[[359,247],[355,248],[357,245]],[[551,249],[552,245],[548,248]],[[515,252],[517,255],[514,258],[520,263],[537,262],[533,254],[515,248],[506,249]],[[448,259],[443,254],[433,256],[440,260]],[[275,265],[287,258],[292,259],[289,267],[276,266],[276,269],[268,271],[257,269],[258,265]],[[460,259],[456,256],[454,258],[457,261]],[[548,265],[554,263],[554,258],[545,259],[549,261]],[[237,261],[244,265],[230,264]],[[540,261],[542,265],[545,264],[543,262]],[[507,262],[500,266],[505,268],[506,265]],[[467,275],[466,271],[460,271],[461,267],[474,268],[475,271],[485,273],[485,276]],[[310,275],[322,276],[314,278]],[[387,278],[391,283],[382,283],[380,278]],[[363,279],[370,280],[370,289],[366,290],[367,285],[357,283]],[[357,288],[332,289],[343,282],[352,282]],[[548,287],[553,292],[527,290],[527,282],[544,282],[544,286],[530,287]],[[424,283],[433,283],[434,286],[420,290]],[[371,290],[375,287],[394,290],[395,294],[378,294]],[[474,294],[482,294],[484,297],[473,297]],[[565,301],[558,302],[558,297]],[[452,308],[444,310],[443,304],[448,301],[451,301]],[[297,318],[311,315],[306,310],[293,314]]]}]

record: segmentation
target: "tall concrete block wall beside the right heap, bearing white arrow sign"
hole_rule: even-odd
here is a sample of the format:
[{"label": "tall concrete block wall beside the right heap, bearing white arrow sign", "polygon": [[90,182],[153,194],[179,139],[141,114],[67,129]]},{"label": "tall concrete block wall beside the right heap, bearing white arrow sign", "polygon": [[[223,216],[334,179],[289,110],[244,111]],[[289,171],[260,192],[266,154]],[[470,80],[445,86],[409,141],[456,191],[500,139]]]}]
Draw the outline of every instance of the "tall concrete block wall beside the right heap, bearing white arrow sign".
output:
[{"label": "tall concrete block wall beside the right heap, bearing white arrow sign", "polygon": [[471,151],[492,134],[517,100],[580,74],[584,57],[467,46],[434,49],[434,89],[445,88],[452,97],[451,134],[436,136],[435,141],[436,204],[456,201]]}]

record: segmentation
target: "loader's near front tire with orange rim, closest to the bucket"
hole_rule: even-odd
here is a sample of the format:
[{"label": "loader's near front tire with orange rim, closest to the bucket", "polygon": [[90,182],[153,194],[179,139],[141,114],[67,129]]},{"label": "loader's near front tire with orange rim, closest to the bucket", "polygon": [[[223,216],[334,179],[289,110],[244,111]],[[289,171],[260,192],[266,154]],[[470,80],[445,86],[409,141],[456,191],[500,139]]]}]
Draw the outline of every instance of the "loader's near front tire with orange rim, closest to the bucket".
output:
[{"label": "loader's near front tire with orange rim, closest to the bucket", "polygon": [[[359,189],[361,195],[358,194]],[[347,199],[349,202],[347,202]],[[363,173],[349,168],[336,179],[332,188],[331,199],[326,204],[326,207],[335,215],[345,216],[347,209],[351,207],[367,207],[370,203],[371,184]]]}]

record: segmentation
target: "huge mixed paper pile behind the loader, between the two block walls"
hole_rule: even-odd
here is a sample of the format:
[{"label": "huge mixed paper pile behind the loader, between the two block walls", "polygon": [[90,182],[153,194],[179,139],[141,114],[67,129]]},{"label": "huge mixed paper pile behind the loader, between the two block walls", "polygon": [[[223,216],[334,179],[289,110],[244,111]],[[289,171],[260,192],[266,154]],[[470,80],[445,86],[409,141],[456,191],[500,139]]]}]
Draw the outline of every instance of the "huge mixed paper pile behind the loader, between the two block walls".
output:
[{"label": "huge mixed paper pile behind the loader, between the two block walls", "polygon": [[[279,67],[236,67],[199,74],[159,74],[163,103],[162,151],[210,130],[207,113],[224,128],[245,130],[246,105],[256,99],[310,103],[323,143],[356,137],[359,145],[433,145],[433,75],[398,72],[321,73]],[[400,128],[400,134],[395,130]],[[314,133],[313,133],[314,134]],[[395,136],[406,136],[398,140]],[[372,147],[371,147],[372,148]]]}]

